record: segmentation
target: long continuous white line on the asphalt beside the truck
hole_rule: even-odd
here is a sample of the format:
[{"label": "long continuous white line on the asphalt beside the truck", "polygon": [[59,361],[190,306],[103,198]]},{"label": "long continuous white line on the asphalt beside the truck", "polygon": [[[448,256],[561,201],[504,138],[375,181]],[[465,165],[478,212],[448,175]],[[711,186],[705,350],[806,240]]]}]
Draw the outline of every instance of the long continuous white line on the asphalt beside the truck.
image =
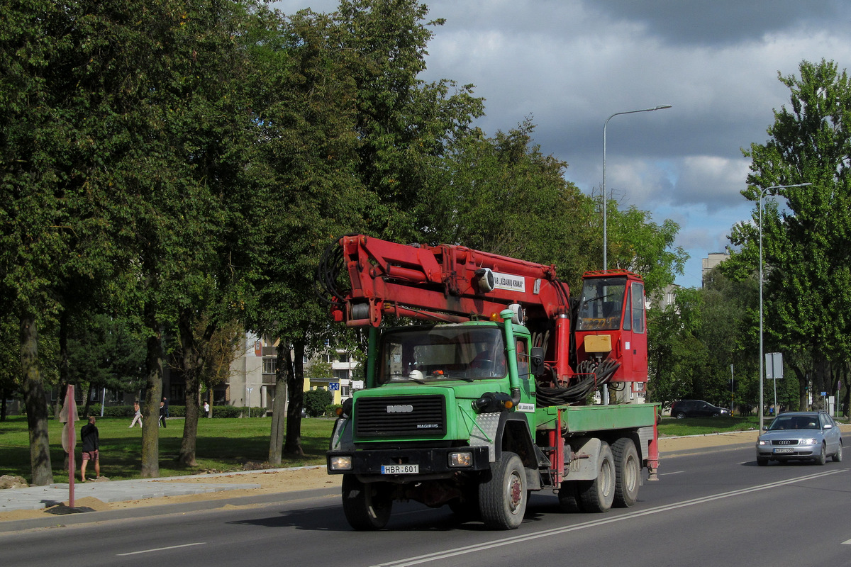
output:
[{"label": "long continuous white line on the asphalt beside the truck", "polygon": [[614,522],[620,522],[625,519],[634,519],[640,518],[642,516],[649,516],[654,513],[662,513],[668,512],[670,510],[676,510],[677,508],[694,506],[696,504],[703,504],[705,502],[712,502],[714,500],[722,500],[723,498],[730,498],[732,496],[740,496],[742,494],[747,494],[749,492],[759,492],[761,490],[768,490],[771,488],[777,488],[778,486],[791,485],[797,482],[801,482],[803,480],[811,480],[811,479],[820,479],[821,477],[830,476],[831,474],[836,473],[844,473],[848,471],[847,468],[827,471],[825,473],[815,473],[815,474],[807,474],[805,476],[797,477],[796,479],[788,479],[788,480],[780,480],[778,482],[769,483],[768,485],[757,485],[751,486],[751,488],[743,488],[740,490],[730,490],[729,492],[722,492],[721,494],[716,494],[712,496],[703,496],[700,498],[694,498],[692,500],[685,500],[683,502],[677,502],[674,504],[666,504],[665,506],[657,506],[648,508],[647,510],[625,513],[620,516],[615,516],[614,518],[608,519],[597,519],[591,520],[590,522],[583,522],[582,524],[568,525],[563,528],[554,528],[552,530],[543,530],[531,534],[527,534],[524,536],[513,536],[513,537],[505,537],[501,540],[495,541],[484,541],[482,543],[477,543],[476,545],[458,547],[457,549],[448,549],[446,551],[428,553],[426,555],[418,555],[416,557],[398,559],[397,561],[391,561],[390,563],[382,563],[378,565],[373,565],[373,567],[407,567],[408,565],[419,565],[423,563],[428,563],[430,561],[436,561],[437,559],[447,559],[450,557],[457,557],[459,555],[465,555],[467,553],[475,553],[477,551],[484,551],[488,549],[493,549],[494,547],[503,547],[512,545],[514,543],[520,541],[530,541],[540,539],[541,537],[550,537],[550,536],[559,536],[561,534],[566,534],[571,531],[577,530],[585,530],[586,528],[593,528],[598,525],[604,524],[614,524]]}]

